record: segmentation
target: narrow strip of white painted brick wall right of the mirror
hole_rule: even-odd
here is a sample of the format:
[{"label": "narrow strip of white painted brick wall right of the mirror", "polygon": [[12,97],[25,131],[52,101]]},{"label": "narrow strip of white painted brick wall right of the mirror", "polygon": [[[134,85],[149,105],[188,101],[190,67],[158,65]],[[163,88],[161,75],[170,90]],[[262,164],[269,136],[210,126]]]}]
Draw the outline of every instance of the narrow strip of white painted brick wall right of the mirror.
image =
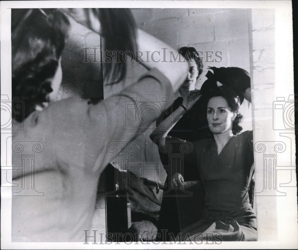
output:
[{"label": "narrow strip of white painted brick wall right of the mirror", "polygon": [[[275,96],[274,10],[251,10],[253,81],[252,102],[254,116],[254,143],[266,146],[263,153],[255,152],[255,201],[257,209],[258,240],[275,240],[277,237],[276,170],[274,164],[264,163],[264,155],[274,152],[272,129],[272,103]],[[263,166],[267,166],[265,169]],[[269,188],[271,184],[271,188]],[[267,186],[266,186],[267,185]],[[265,195],[265,196],[259,196]]]}]

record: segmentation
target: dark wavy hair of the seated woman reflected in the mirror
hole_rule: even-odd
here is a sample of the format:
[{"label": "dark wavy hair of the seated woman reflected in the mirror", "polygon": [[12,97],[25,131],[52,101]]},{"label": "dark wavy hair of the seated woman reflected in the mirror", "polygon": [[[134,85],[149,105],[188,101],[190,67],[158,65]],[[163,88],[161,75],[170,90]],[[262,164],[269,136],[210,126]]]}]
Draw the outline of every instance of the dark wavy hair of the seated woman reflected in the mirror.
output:
[{"label": "dark wavy hair of the seated woman reflected in the mirror", "polygon": [[232,132],[233,132],[233,135],[238,135],[242,130],[242,127],[239,125],[239,123],[242,120],[243,115],[241,115],[238,112],[240,108],[240,100],[239,100],[239,97],[233,91],[233,89],[223,85],[214,89],[209,89],[208,92],[206,92],[204,95],[205,96],[203,96],[203,98],[204,98],[204,103],[206,105],[204,107],[205,108],[204,110],[207,110],[207,104],[212,97],[221,96],[226,100],[231,111],[233,113],[237,113],[236,118],[232,124]]}]

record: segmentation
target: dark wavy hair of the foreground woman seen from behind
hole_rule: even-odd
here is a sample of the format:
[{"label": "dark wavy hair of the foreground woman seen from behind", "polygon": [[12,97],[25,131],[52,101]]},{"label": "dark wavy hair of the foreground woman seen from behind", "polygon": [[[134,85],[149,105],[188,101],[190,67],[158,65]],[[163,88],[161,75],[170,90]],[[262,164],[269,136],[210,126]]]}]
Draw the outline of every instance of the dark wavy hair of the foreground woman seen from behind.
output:
[{"label": "dark wavy hair of the foreground woman seen from behind", "polygon": [[69,21],[57,9],[12,9],[12,97],[24,102],[14,119],[22,121],[47,102]]}]

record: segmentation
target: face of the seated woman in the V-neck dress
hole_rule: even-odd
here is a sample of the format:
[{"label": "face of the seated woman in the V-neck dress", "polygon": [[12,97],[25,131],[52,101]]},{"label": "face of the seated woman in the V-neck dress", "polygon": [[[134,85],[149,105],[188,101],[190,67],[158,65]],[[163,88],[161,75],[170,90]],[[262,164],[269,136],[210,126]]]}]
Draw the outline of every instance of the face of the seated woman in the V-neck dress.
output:
[{"label": "face of the seated woman in the V-neck dress", "polygon": [[221,134],[227,130],[232,131],[232,123],[236,113],[231,111],[225,98],[212,97],[207,105],[207,120],[209,129],[213,134]]}]

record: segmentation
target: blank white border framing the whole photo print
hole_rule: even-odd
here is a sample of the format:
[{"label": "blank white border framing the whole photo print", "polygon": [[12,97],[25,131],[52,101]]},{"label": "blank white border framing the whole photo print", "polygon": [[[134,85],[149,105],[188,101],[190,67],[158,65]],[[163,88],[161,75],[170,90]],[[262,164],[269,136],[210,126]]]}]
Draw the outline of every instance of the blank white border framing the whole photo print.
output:
[{"label": "blank white border framing the whole photo print", "polygon": [[[67,7],[127,7],[127,8],[244,8],[244,9],[275,9],[275,96],[285,97],[294,94],[293,66],[293,25],[291,1],[1,1],[0,39],[1,39],[1,95],[11,100],[11,8],[67,8]],[[265,97],[266,98],[266,97]],[[268,98],[268,97],[267,97]],[[2,117],[1,120],[5,119]],[[282,121],[276,121],[282,122]],[[6,136],[11,131],[1,131],[1,166],[11,166],[11,138]],[[280,131],[275,131],[275,138]],[[295,136],[294,136],[295,138]],[[295,139],[292,140],[292,161],[295,163]],[[294,154],[294,155],[293,155]],[[285,159],[288,159],[285,156]],[[258,162],[260,163],[260,162]],[[257,163],[256,163],[257,164]],[[285,163],[289,165],[289,163]],[[294,165],[293,165],[294,164]],[[2,175],[1,171],[1,175]],[[11,173],[8,172],[8,179]],[[1,178],[3,181],[3,176]],[[1,183],[2,184],[2,183]],[[285,190],[285,189],[284,189]],[[288,187],[286,196],[276,196],[278,237],[274,241],[256,242],[222,242],[219,245],[196,244],[162,244],[160,243],[11,243],[11,189],[1,186],[1,249],[297,249],[297,187]],[[258,209],[258,208],[257,208]],[[258,215],[257,215],[258,218]]]}]

